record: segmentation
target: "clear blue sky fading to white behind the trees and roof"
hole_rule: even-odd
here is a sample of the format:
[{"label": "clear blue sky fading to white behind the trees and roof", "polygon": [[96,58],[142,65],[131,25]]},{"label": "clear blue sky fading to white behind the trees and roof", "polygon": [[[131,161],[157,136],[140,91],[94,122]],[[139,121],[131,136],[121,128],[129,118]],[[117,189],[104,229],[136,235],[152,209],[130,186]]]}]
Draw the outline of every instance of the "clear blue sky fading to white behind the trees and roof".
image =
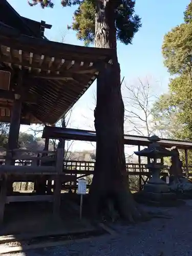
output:
[{"label": "clear blue sky fading to white behind the trees and roof", "polygon": [[[8,0],[12,7],[22,16],[45,20],[51,24],[51,30],[46,30],[46,36],[50,40],[60,41],[66,34],[65,43],[83,45],[76,39],[73,31],[67,30],[71,24],[75,7],[62,8],[60,0],[55,0],[54,9],[42,10],[39,6],[30,7],[27,0]],[[163,66],[161,46],[163,36],[173,27],[183,22],[183,11],[189,4],[189,0],[136,0],[136,13],[142,18],[142,28],[135,35],[133,44],[124,46],[118,43],[118,58],[121,65],[121,76],[127,81],[137,77],[151,77],[161,80],[159,93],[167,90],[169,74]],[[73,114],[73,126],[90,129],[93,125],[94,108],[93,94],[95,84],[76,103]],[[82,118],[84,116],[84,119]]]}]

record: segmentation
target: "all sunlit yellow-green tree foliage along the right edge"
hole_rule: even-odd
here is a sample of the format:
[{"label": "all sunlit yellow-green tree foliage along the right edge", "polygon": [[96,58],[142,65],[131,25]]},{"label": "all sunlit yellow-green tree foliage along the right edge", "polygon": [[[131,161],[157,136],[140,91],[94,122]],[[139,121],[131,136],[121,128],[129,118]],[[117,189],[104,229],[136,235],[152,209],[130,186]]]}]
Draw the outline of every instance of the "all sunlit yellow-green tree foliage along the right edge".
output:
[{"label": "all sunlit yellow-green tree foliage along the right edge", "polygon": [[162,53],[171,75],[169,92],[154,105],[155,119],[169,137],[192,140],[192,1],[184,12],[184,22],[164,36]]}]

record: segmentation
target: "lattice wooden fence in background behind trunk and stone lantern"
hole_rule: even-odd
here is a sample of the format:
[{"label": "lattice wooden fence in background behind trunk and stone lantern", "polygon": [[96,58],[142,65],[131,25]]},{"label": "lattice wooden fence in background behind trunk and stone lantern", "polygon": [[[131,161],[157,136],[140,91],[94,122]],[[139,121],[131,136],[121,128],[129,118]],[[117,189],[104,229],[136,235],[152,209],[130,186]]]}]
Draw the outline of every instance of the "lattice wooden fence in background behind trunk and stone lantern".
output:
[{"label": "lattice wooden fence in background behind trunk and stone lantern", "polygon": [[[34,157],[33,157],[34,159]],[[2,162],[4,164],[4,162]],[[24,160],[20,159],[16,162],[17,165],[29,166],[32,164],[32,160]],[[44,166],[47,170],[50,166]],[[52,167],[53,168],[53,167]],[[66,182],[63,182],[63,189],[77,189],[78,180],[80,178],[86,178],[88,182],[88,188],[91,184],[92,177],[94,174],[95,162],[94,161],[63,161],[63,174],[67,175],[69,179],[66,179]],[[167,175],[169,166],[161,170],[161,176]],[[49,175],[49,171],[44,172]],[[127,172],[127,180],[129,181],[131,190],[141,190],[143,184],[147,182],[150,178],[150,173],[148,169],[145,167],[145,164],[139,163],[126,163],[126,172]],[[40,174],[40,173],[39,173]],[[192,166],[188,166],[188,172],[186,167],[183,166],[183,175],[187,175],[192,177]],[[27,184],[26,184],[27,183]],[[54,185],[54,182],[52,182]],[[33,185],[30,182],[17,182],[14,184],[15,190],[31,190]]]}]

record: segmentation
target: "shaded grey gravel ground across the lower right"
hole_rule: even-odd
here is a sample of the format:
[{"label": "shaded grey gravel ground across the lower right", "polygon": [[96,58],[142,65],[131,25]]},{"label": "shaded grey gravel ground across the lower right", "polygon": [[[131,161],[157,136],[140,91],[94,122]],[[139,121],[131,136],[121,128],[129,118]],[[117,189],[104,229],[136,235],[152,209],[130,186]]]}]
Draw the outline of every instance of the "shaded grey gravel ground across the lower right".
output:
[{"label": "shaded grey gravel ground across the lower right", "polygon": [[[89,242],[31,250],[6,256],[192,256],[192,200],[178,208],[145,207],[161,211],[170,219],[152,219],[130,226],[115,225],[118,235]],[[1,255],[1,254],[0,254]]]}]

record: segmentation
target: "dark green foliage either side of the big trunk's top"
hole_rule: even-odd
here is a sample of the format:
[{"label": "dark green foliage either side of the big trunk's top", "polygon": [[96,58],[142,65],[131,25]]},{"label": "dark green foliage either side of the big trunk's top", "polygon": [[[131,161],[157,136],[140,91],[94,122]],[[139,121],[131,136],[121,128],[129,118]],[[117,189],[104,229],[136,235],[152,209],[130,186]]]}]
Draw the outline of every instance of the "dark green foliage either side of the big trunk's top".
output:
[{"label": "dark green foliage either side of the big trunk's top", "polygon": [[[30,6],[40,4],[42,8],[51,7],[54,4],[51,0],[31,0]],[[113,2],[115,11],[115,25],[117,39],[123,44],[131,44],[134,34],[141,27],[141,19],[135,15],[135,0],[118,0]],[[115,4],[114,4],[115,3]],[[62,6],[78,5],[73,16],[73,23],[68,29],[76,31],[77,38],[84,41],[85,45],[93,44],[95,37],[95,0],[62,0]]]}]

